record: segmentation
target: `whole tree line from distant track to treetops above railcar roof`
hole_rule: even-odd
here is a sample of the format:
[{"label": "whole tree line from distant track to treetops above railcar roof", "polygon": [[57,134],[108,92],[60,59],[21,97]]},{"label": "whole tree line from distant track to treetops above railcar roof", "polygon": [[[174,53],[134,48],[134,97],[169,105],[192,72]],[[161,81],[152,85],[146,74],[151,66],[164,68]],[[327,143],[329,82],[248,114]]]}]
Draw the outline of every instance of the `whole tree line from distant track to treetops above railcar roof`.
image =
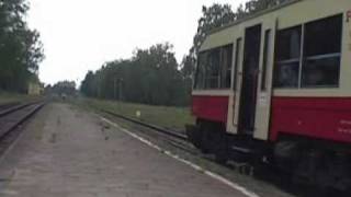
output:
[{"label": "whole tree line from distant track to treetops above railcar roof", "polygon": [[177,62],[171,44],[158,44],[137,49],[129,59],[105,62],[95,72],[89,71],[80,90],[91,97],[151,105],[188,105],[197,53],[208,33],[285,1],[288,0],[250,0],[236,11],[229,4],[203,7],[193,46],[181,63]]}]

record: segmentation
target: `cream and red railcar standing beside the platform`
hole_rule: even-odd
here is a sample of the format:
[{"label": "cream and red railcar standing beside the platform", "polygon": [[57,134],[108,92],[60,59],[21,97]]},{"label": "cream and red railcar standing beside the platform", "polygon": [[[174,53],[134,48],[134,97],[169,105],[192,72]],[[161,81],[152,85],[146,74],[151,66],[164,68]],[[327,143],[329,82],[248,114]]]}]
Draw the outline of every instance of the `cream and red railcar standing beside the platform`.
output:
[{"label": "cream and red railcar standing beside the platform", "polygon": [[351,185],[351,1],[295,0],[213,31],[192,91],[193,143]]}]

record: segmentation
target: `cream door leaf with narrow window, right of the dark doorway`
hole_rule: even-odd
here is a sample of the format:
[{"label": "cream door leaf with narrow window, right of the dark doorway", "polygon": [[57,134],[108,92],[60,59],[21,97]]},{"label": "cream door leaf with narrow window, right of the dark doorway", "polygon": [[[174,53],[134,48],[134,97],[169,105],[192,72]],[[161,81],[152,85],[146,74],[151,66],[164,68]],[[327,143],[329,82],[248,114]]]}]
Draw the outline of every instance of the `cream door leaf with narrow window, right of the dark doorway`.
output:
[{"label": "cream door leaf with narrow window, right of the dark doorway", "polygon": [[271,100],[273,89],[273,65],[275,46],[276,21],[269,20],[262,24],[262,45],[260,58],[260,72],[257,89],[257,108],[254,119],[256,139],[267,140],[269,138],[269,126],[271,115]]}]

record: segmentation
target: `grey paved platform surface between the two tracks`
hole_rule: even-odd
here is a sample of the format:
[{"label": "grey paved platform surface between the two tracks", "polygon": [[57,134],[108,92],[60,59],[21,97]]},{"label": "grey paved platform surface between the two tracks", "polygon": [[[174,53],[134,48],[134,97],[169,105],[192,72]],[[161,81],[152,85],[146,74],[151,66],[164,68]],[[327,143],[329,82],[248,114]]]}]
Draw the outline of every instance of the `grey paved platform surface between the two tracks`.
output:
[{"label": "grey paved platform surface between the two tracks", "polygon": [[66,104],[44,107],[0,162],[0,196],[244,196]]}]

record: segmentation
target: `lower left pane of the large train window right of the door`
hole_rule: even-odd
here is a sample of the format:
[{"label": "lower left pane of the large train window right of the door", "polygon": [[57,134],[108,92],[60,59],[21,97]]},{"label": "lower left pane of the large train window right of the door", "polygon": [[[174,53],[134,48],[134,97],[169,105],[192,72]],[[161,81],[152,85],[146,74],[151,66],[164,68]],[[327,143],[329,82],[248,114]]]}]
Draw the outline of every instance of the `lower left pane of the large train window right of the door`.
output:
[{"label": "lower left pane of the large train window right of the door", "polygon": [[299,62],[279,63],[275,69],[274,84],[279,88],[296,88],[298,85]]}]

